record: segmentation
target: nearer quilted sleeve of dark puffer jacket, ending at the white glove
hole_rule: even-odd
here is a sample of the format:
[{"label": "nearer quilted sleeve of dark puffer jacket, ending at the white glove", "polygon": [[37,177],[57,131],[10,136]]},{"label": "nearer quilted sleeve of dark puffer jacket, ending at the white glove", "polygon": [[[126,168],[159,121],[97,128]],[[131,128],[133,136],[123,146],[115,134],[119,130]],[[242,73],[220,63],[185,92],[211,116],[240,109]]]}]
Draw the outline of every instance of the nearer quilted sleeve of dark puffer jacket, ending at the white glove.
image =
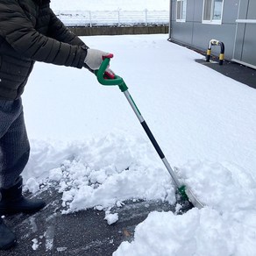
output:
[{"label": "nearer quilted sleeve of dark puffer jacket, ending at the white glove", "polygon": [[16,0],[0,1],[0,10],[0,35],[18,54],[55,65],[83,67],[87,46],[74,46],[39,33]]}]

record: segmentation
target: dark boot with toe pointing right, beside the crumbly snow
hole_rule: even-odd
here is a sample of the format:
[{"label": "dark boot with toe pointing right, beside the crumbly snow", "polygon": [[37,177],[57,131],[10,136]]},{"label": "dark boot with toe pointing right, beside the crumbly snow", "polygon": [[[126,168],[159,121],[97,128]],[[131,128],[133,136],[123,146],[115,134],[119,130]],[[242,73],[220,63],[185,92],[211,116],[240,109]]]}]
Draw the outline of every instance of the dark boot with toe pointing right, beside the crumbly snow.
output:
[{"label": "dark boot with toe pointing right, beside the crumbly snow", "polygon": [[22,195],[22,177],[11,188],[0,188],[0,214],[33,213],[46,206],[43,200],[26,199]]}]

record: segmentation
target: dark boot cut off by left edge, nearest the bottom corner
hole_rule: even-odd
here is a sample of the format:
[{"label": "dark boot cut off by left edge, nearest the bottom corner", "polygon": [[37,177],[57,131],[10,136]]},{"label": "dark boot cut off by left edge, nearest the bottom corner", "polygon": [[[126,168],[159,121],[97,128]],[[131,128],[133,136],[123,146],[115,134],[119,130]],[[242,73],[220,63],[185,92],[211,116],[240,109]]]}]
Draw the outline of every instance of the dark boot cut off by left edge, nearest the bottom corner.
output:
[{"label": "dark boot cut off by left edge, nearest the bottom corner", "polygon": [[7,250],[15,245],[17,238],[15,234],[4,224],[0,217],[0,250]]}]

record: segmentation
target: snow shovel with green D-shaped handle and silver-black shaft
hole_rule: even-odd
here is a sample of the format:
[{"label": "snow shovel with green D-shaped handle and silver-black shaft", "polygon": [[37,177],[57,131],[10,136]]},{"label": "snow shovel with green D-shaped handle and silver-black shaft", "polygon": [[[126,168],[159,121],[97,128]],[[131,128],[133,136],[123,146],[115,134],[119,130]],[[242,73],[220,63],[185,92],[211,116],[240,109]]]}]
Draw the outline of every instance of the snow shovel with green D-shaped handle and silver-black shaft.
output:
[{"label": "snow shovel with green D-shaped handle and silver-black shaft", "polygon": [[146,135],[151,140],[156,152],[159,154],[160,159],[163,161],[165,167],[167,167],[168,173],[172,176],[175,186],[176,186],[179,194],[181,195],[182,200],[189,201],[198,209],[203,208],[203,203],[201,203],[196,198],[196,196],[193,194],[193,192],[189,188],[187,188],[184,184],[181,184],[181,182],[178,180],[177,175],[174,173],[174,170],[168,163],[164,153],[160,149],[160,146],[158,145],[157,141],[154,139],[153,133],[150,131],[150,129],[147,126],[146,121],[142,117],[137,105],[134,103],[132,96],[130,95],[130,93],[128,91],[128,87],[126,86],[123,78],[118,75],[115,75],[114,79],[107,79],[104,76],[105,70],[106,70],[106,68],[108,68],[109,64],[110,64],[110,59],[106,58],[105,60],[103,60],[101,67],[98,70],[96,70],[95,73],[96,73],[98,82],[100,82],[101,84],[106,85],[106,86],[117,85],[119,87],[119,89],[124,93],[124,96],[126,97],[126,99],[128,100],[128,102],[130,103],[130,105],[132,107],[132,110],[135,112],[136,116],[139,119],[140,124],[144,128]]}]

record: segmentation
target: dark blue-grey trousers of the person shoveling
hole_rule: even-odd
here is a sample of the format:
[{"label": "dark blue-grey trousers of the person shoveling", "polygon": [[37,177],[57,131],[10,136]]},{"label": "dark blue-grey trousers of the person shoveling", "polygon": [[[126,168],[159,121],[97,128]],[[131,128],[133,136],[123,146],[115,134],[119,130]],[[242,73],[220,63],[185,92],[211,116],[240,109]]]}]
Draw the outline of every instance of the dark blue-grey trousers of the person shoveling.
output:
[{"label": "dark blue-grey trousers of the person shoveling", "polygon": [[29,159],[21,98],[0,100],[0,188],[11,188]]}]

